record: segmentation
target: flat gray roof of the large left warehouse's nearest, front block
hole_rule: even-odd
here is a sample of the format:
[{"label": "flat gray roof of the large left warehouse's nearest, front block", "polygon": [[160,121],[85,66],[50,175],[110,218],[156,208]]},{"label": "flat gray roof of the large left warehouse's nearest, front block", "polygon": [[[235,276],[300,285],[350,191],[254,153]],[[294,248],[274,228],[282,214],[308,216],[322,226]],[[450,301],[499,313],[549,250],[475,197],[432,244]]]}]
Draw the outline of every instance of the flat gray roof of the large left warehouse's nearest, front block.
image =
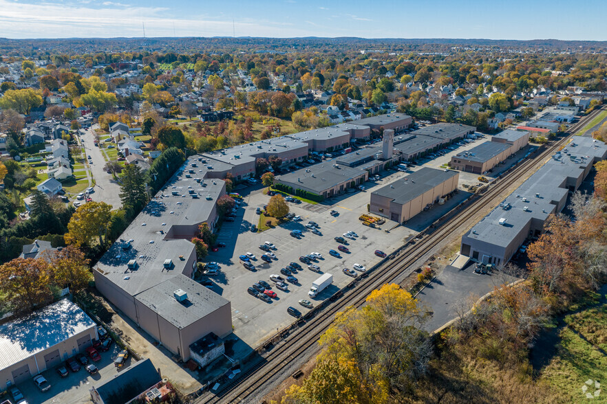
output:
[{"label": "flat gray roof of the large left warehouse's nearest, front block", "polygon": [[[173,292],[178,289],[187,293],[186,301],[178,302],[175,299]],[[225,298],[184,275],[165,280],[139,293],[136,299],[178,328],[185,328],[217,308],[230,304]]]}]

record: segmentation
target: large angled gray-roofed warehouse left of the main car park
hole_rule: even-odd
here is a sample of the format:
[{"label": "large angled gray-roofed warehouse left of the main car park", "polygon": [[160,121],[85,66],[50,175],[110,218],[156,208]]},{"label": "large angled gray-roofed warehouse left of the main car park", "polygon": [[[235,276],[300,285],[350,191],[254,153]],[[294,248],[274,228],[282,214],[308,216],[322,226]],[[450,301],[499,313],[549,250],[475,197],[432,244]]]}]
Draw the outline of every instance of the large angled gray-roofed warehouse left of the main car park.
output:
[{"label": "large angled gray-roofed warehouse left of the main car park", "polygon": [[100,293],[184,361],[204,335],[232,332],[230,302],[191,280],[197,256],[189,240],[201,223],[215,228],[226,193],[199,159],[184,163],[93,269]]}]

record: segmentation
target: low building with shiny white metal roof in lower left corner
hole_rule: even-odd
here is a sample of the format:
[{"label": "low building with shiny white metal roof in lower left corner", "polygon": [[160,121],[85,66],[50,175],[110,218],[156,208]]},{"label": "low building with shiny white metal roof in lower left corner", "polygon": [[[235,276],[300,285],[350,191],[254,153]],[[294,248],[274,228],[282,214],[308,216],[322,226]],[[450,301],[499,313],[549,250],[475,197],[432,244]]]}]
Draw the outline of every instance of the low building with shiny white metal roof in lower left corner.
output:
[{"label": "low building with shiny white metal roof in lower left corner", "polygon": [[96,324],[67,299],[0,326],[0,391],[54,368],[94,339]]}]

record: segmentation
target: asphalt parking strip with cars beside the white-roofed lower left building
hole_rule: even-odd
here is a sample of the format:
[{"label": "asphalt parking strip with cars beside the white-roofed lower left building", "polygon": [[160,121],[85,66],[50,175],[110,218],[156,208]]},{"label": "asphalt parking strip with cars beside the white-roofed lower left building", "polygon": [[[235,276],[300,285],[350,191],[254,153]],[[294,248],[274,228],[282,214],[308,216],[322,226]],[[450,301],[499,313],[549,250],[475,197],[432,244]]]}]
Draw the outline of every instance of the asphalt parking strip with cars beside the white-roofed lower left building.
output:
[{"label": "asphalt parking strip with cars beside the white-roofed lower left building", "polygon": [[81,366],[81,369],[77,372],[72,372],[65,365],[65,361],[61,363],[61,366],[65,366],[68,370],[67,377],[61,377],[56,372],[55,368],[45,370],[42,372],[42,375],[49,381],[51,388],[47,392],[41,392],[36,388],[34,381],[28,380],[24,383],[17,385],[17,388],[21,390],[23,396],[25,396],[25,400],[28,403],[38,404],[38,403],[89,403],[90,394],[89,389],[93,385],[99,385],[104,381],[109,379],[113,379],[118,372],[126,369],[133,359],[127,359],[126,366],[123,368],[116,368],[114,366],[114,358],[120,352],[120,347],[116,346],[116,344],[112,344],[110,350],[107,352],[99,352],[101,355],[101,359],[97,362],[89,361],[89,363],[94,363],[94,365],[98,368],[98,372],[95,374],[89,374],[87,370],[85,370],[85,366]]}]

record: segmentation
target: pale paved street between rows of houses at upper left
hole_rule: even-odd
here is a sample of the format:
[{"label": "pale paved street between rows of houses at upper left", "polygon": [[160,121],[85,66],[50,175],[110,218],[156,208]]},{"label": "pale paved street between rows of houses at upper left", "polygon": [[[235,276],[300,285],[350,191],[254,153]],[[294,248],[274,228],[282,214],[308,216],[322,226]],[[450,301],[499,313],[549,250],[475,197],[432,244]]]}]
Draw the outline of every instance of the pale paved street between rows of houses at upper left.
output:
[{"label": "pale paved street between rows of houses at upper left", "polygon": [[123,205],[120,201],[120,186],[111,174],[107,174],[103,170],[105,159],[103,158],[103,152],[94,144],[95,138],[92,128],[86,129],[80,138],[85,148],[85,155],[91,156],[93,160],[90,170],[95,181],[95,192],[91,194],[91,198],[93,201],[103,201],[114,209],[119,209]]}]

